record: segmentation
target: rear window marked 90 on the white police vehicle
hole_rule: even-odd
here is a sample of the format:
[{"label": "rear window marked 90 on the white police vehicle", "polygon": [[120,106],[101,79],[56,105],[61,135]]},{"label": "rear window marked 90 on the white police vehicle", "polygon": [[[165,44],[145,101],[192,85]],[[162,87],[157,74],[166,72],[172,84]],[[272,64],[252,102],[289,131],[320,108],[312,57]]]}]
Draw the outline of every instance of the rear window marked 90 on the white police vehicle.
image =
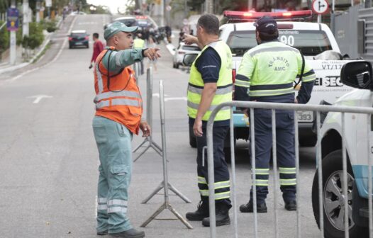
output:
[{"label": "rear window marked 90 on the white police vehicle", "polygon": [[[304,55],[318,55],[332,50],[326,33],[322,30],[279,30],[279,40],[300,50]],[[243,56],[247,50],[257,45],[255,30],[233,31],[227,44],[233,56]]]}]

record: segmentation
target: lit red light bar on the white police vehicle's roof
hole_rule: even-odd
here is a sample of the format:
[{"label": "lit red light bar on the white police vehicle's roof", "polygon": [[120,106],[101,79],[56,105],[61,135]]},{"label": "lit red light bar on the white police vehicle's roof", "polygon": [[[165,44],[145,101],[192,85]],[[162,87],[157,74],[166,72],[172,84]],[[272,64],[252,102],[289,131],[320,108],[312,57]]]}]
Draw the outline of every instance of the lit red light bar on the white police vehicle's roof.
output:
[{"label": "lit red light bar on the white police vehicle's roof", "polygon": [[262,16],[269,16],[281,21],[306,20],[312,17],[311,10],[283,11],[283,12],[256,12],[256,11],[224,11],[228,22],[256,21]]}]

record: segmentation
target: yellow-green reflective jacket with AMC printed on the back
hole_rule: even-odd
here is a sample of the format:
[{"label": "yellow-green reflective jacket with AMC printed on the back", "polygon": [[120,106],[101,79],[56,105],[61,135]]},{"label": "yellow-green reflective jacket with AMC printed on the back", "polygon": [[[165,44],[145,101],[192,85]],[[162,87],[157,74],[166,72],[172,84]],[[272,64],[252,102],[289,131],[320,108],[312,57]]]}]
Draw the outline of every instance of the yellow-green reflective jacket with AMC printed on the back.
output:
[{"label": "yellow-green reflective jacket with AMC printed on the back", "polygon": [[[252,97],[293,94],[293,81],[301,67],[299,50],[279,41],[265,42],[243,55],[237,74],[246,78],[237,77],[235,86],[247,87]],[[302,82],[314,80],[315,74],[306,62]]]}]

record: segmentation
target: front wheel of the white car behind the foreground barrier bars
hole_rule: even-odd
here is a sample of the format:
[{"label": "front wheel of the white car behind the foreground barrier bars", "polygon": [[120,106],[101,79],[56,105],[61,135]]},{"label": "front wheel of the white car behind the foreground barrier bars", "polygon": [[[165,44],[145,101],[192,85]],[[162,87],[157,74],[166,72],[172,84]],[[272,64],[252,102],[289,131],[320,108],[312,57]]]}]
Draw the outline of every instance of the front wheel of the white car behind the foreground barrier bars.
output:
[{"label": "front wheel of the white car behind the foreground barrier bars", "polygon": [[[347,162],[348,163],[348,162]],[[340,196],[343,194],[341,181],[343,178],[342,150],[330,152],[323,158],[323,220],[324,220],[324,236],[325,238],[343,238],[344,231],[344,212],[343,200]],[[347,165],[347,186],[349,191],[349,207],[352,209],[352,188],[354,176],[350,165]],[[338,189],[335,189],[337,186]],[[334,189],[332,189],[334,188]],[[335,201],[341,201],[335,205]],[[318,203],[318,170],[313,178],[312,185],[312,208],[316,223],[320,228],[320,215]],[[325,212],[327,210],[328,212]],[[350,222],[350,237],[365,237],[367,229],[359,227],[352,220],[352,212],[349,214]],[[338,223],[342,222],[342,223]]]}]

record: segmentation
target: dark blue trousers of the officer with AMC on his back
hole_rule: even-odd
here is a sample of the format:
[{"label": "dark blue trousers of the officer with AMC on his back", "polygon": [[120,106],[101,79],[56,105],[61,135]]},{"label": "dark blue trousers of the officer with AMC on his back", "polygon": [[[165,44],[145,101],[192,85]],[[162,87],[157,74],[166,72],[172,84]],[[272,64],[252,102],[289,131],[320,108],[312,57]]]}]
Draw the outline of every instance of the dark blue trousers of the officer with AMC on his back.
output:
[{"label": "dark blue trousers of the officer with AMC on his back", "polygon": [[[269,160],[272,149],[272,111],[255,109],[255,165],[257,203],[265,203],[268,194]],[[295,200],[296,168],[294,148],[294,111],[276,113],[277,164],[284,201]],[[250,191],[252,199],[252,188]]]}]

